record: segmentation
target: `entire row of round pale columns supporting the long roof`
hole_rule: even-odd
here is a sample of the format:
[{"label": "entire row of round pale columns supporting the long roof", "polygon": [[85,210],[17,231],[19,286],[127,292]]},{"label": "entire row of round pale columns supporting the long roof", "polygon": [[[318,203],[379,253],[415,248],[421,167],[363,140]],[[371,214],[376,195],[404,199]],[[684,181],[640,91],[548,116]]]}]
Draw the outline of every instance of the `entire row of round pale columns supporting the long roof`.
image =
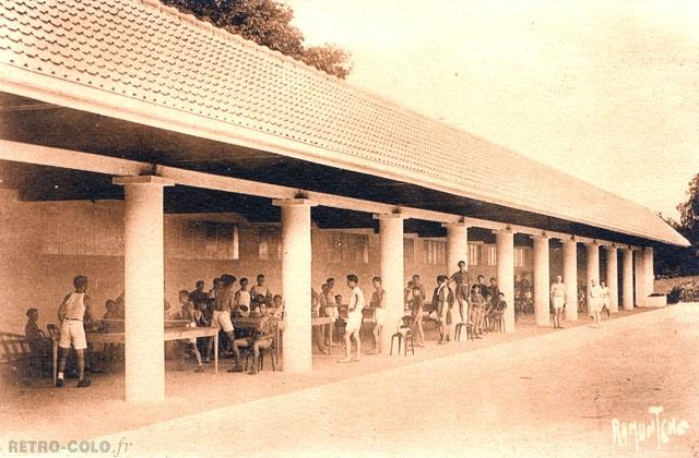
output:
[{"label": "entire row of round pale columns supporting the long roof", "polygon": [[[164,363],[164,186],[173,183],[158,177],[120,177],[116,184],[125,186],[125,313],[126,397],[129,401],[157,401],[165,397]],[[304,198],[274,201],[282,213],[282,294],[286,304],[284,333],[284,369],[308,373],[312,366],[310,285],[311,218],[313,204]],[[396,323],[403,314],[403,216],[375,215],[380,226],[380,276],[386,291],[387,323]],[[458,269],[459,261],[467,261],[467,226],[448,224],[447,272]],[[508,303],[506,332],[514,329],[514,234],[496,230],[497,277]],[[549,324],[549,252],[548,238],[534,236],[534,314],[537,325]],[[588,244],[588,281],[599,280],[599,245]],[[616,301],[616,248],[607,246],[607,282]],[[652,291],[652,249],[636,258],[637,303]],[[624,249],[624,309],[633,308],[632,253]],[[650,275],[647,275],[650,273]],[[568,296],[577,298],[577,244],[564,240],[564,280]],[[640,300],[639,300],[640,298]],[[567,320],[577,320],[577,306],[566,311]],[[391,333],[383,333],[388,348]]]}]

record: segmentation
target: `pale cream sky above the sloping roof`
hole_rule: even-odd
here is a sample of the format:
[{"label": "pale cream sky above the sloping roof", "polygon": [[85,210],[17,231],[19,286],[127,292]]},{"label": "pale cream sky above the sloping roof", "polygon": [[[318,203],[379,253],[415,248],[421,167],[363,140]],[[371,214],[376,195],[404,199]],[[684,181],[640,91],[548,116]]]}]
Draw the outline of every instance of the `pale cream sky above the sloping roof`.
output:
[{"label": "pale cream sky above the sloping roof", "polygon": [[699,1],[285,2],[351,85],[663,215],[699,173]]}]

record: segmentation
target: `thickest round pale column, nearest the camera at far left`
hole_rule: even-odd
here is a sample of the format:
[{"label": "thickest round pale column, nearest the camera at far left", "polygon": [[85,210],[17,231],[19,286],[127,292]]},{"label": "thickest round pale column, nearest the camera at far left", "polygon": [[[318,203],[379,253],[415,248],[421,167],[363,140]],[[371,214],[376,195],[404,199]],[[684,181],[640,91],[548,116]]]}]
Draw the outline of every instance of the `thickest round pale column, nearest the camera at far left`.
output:
[{"label": "thickest round pale column, nearest the camera at far left", "polygon": [[120,177],[125,186],[125,384],[129,402],[165,399],[163,188],[158,177]]}]

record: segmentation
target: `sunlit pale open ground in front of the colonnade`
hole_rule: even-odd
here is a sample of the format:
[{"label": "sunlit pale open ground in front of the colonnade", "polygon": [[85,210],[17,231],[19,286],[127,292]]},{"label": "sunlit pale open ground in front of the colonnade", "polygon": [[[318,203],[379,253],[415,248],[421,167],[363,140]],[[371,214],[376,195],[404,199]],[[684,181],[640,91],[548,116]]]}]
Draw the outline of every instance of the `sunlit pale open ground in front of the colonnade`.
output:
[{"label": "sunlit pale open ground in front of the colonnade", "polygon": [[[683,304],[599,329],[532,332],[474,351],[454,349],[306,389],[284,377],[282,383],[294,385],[288,393],[105,437],[112,444],[125,438],[133,456],[699,455],[697,324],[699,305]],[[279,385],[273,374],[250,378],[261,391]],[[176,401],[220,396],[196,394],[199,400]],[[650,423],[651,406],[664,408],[661,418],[685,419],[688,433],[670,437],[660,450],[654,435],[638,450],[632,439],[614,444],[613,419]],[[123,424],[122,414],[117,423]]]}]

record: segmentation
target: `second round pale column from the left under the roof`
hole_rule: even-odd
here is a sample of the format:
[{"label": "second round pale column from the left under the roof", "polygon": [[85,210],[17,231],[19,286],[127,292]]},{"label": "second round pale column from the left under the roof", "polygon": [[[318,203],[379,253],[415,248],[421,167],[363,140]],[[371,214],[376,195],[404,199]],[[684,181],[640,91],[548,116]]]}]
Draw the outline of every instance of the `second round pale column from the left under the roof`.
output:
[{"label": "second round pale column from the left under the roof", "polygon": [[282,297],[286,311],[284,371],[310,373],[311,243],[310,207],[305,198],[274,201],[282,208]]}]

